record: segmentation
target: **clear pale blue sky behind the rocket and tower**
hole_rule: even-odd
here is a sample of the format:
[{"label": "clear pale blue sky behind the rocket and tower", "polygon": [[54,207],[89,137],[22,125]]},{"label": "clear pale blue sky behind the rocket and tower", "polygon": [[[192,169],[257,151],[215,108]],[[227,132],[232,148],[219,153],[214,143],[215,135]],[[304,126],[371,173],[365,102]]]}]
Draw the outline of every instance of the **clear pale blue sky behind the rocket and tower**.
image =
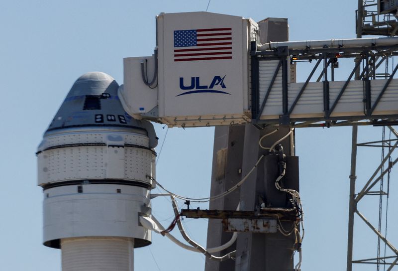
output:
[{"label": "clear pale blue sky behind the rocket and tower", "polygon": [[[304,40],[355,37],[356,5],[354,0],[211,0],[208,11],[256,21],[286,17],[290,39]],[[102,71],[122,84],[123,57],[152,54],[157,14],[204,11],[206,6],[207,0],[0,1],[1,270],[61,269],[60,251],[41,245],[42,191],[36,186],[34,153],[74,81],[88,71]],[[304,81],[307,69],[298,69],[298,81]],[[348,69],[339,68],[337,79],[344,80]],[[162,142],[167,129],[161,125],[156,129]],[[298,129],[296,135],[306,226],[302,268],[343,270],[351,128]],[[360,141],[378,140],[381,135],[380,128],[359,129]],[[158,180],[178,194],[208,195],[212,145],[213,128],[169,129],[158,162]],[[380,150],[361,148],[358,153],[359,186],[380,161]],[[390,213],[394,214],[394,173],[390,189]],[[377,223],[378,198],[361,203],[359,209]],[[167,225],[172,217],[169,201],[154,199],[153,213]],[[394,244],[398,234],[391,225],[398,221],[393,216],[389,219]],[[203,245],[206,223],[185,220],[192,237]],[[355,223],[354,258],[374,257],[376,239],[358,219]],[[204,267],[203,256],[183,251],[162,236],[154,236],[150,247],[134,253],[137,271],[185,270],[188,265],[191,271],[201,271]],[[359,268],[373,270],[369,266],[354,270]]]}]

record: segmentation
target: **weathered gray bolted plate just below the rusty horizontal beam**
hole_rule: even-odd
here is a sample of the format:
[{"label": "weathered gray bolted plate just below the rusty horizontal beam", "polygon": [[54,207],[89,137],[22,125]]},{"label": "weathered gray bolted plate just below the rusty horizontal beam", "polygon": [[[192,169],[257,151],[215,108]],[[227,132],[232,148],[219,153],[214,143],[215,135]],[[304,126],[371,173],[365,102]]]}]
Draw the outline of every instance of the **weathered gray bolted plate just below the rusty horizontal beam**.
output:
[{"label": "weathered gray bolted plate just below the rusty horizontal beam", "polygon": [[226,232],[252,232],[252,233],[276,233],[276,219],[223,219],[222,224]]}]

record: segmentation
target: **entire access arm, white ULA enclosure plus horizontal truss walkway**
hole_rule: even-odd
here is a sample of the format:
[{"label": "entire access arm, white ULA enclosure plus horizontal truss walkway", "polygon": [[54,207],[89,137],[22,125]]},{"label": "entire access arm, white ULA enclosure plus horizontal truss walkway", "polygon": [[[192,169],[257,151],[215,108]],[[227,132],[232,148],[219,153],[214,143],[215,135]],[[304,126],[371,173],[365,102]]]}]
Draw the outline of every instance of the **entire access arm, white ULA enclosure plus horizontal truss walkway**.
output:
[{"label": "entire access arm, white ULA enclosure plus horizontal truss walkway", "polygon": [[[170,127],[398,119],[398,65],[378,79],[372,59],[397,55],[397,37],[260,44],[261,23],[209,12],[160,14],[154,55],[124,59],[124,110]],[[360,60],[346,80],[334,81],[327,71],[333,74],[340,57]],[[291,80],[297,61],[312,60],[305,82]],[[361,63],[361,80],[352,80]],[[319,79],[311,79],[316,70]]]}]

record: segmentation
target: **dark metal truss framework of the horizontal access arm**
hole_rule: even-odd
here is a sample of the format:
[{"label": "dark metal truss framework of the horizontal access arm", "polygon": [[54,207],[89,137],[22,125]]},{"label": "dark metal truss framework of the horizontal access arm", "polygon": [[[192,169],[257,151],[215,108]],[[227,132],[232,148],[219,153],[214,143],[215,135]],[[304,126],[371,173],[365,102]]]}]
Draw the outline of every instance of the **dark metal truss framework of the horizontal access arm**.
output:
[{"label": "dark metal truss framework of the horizontal access arm", "polygon": [[[252,122],[256,125],[287,125],[290,127],[331,127],[331,126],[352,126],[352,125],[393,125],[398,123],[397,115],[375,115],[374,111],[380,100],[385,94],[389,84],[393,80],[398,70],[395,66],[393,72],[388,76],[388,80],[384,84],[381,92],[377,95],[375,101],[371,100],[372,87],[371,80],[376,80],[378,74],[376,70],[390,56],[398,55],[398,45],[392,46],[370,46],[370,47],[338,47],[338,48],[307,48],[307,49],[290,49],[288,47],[278,47],[277,50],[257,51],[255,42],[252,42],[251,51],[251,88],[252,88]],[[354,67],[339,91],[337,98],[331,101],[329,97],[329,81],[334,81],[334,69],[338,66],[340,58],[351,58],[355,60]],[[272,77],[271,84],[266,91],[265,97],[260,101],[259,90],[259,63],[261,61],[279,60],[279,64]],[[292,104],[288,104],[289,84],[288,84],[288,65],[289,61],[299,62],[308,61],[315,62],[311,72],[309,73],[305,83],[302,85]],[[355,73],[361,70],[357,80],[363,81],[363,114],[360,116],[332,116],[340,98],[346,92],[350,81]],[[318,69],[318,67],[321,67]],[[265,108],[267,99],[271,93],[271,89],[275,80],[282,69],[282,111],[283,114],[279,119],[262,120],[260,116]],[[318,71],[320,70],[320,72]],[[319,75],[316,82],[323,82],[323,112],[321,118],[292,118],[291,114],[304,93],[308,83],[314,77],[316,72]],[[380,91],[380,90],[379,90]]]}]

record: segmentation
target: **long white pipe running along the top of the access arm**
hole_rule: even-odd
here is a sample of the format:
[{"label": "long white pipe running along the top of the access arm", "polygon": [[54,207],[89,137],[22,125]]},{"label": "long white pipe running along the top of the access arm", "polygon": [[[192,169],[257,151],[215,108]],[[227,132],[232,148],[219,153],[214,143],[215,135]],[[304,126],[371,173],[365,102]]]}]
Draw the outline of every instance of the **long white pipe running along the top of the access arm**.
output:
[{"label": "long white pipe running along the top of the access arm", "polygon": [[362,47],[372,45],[398,45],[398,37],[388,38],[351,38],[351,39],[324,39],[324,40],[300,40],[300,41],[276,41],[265,44],[258,44],[257,50],[274,50],[281,46],[288,46],[289,49],[307,48],[337,48],[337,47]]}]

